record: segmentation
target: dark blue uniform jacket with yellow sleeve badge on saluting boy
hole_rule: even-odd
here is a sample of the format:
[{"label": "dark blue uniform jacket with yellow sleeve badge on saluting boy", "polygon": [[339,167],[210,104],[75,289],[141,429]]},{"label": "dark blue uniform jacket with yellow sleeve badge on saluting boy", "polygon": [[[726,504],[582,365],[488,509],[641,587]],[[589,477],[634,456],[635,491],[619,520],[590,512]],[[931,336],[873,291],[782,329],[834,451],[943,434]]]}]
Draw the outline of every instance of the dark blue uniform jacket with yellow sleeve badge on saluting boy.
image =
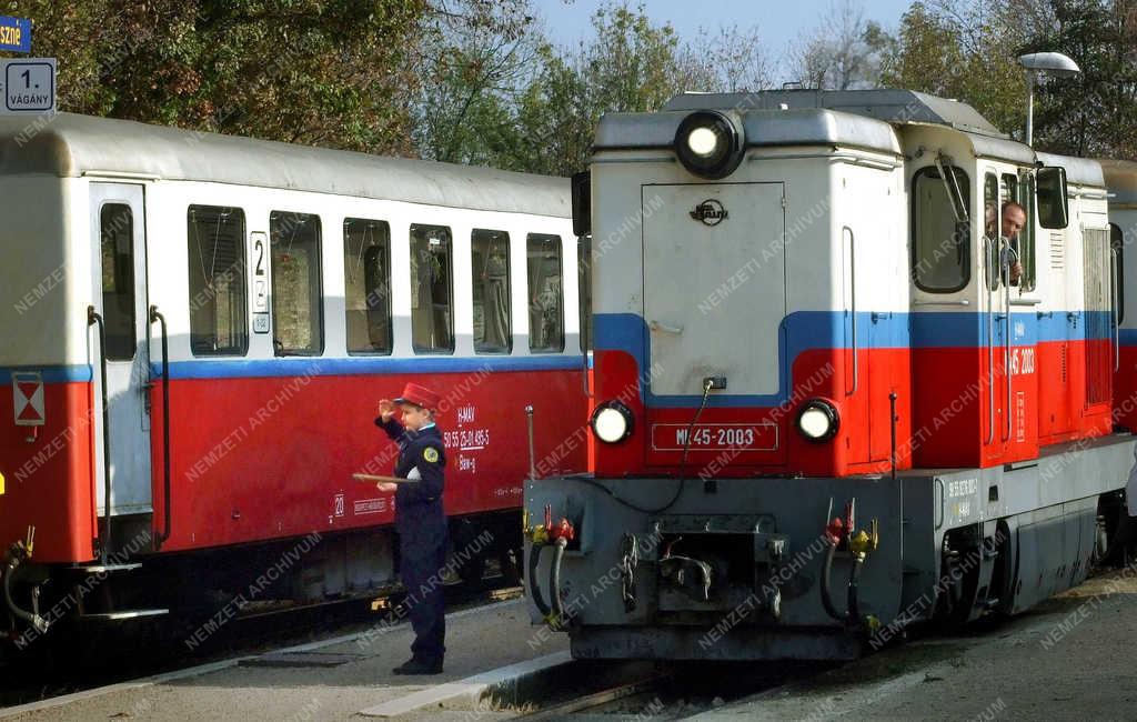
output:
[{"label": "dark blue uniform jacket with yellow sleeve badge on saluting boy", "polygon": [[418,468],[417,483],[399,484],[395,492],[395,528],[399,532],[404,553],[417,556],[446,543],[446,513],[442,511],[446,447],[438,426],[409,431],[396,420],[375,424],[387,431],[399,445],[399,460],[395,475],[406,479]]}]

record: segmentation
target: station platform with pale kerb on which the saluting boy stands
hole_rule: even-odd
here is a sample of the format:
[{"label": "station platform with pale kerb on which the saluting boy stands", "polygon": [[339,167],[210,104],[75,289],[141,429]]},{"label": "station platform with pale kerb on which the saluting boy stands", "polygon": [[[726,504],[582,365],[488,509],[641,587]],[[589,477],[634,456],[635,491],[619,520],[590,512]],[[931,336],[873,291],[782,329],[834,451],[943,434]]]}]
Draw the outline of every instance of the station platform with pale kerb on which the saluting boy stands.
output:
[{"label": "station platform with pale kerb on which the saluting boy stands", "polygon": [[[564,636],[540,630],[530,625],[524,600],[513,599],[447,615],[446,670],[438,675],[392,674],[391,667],[410,656],[413,632],[406,623],[376,624],[337,639],[0,709],[0,719],[309,722],[388,713],[437,719],[434,698],[468,705],[496,680],[524,677],[526,663],[539,669],[567,662]],[[441,686],[448,687],[440,691]]]}]

